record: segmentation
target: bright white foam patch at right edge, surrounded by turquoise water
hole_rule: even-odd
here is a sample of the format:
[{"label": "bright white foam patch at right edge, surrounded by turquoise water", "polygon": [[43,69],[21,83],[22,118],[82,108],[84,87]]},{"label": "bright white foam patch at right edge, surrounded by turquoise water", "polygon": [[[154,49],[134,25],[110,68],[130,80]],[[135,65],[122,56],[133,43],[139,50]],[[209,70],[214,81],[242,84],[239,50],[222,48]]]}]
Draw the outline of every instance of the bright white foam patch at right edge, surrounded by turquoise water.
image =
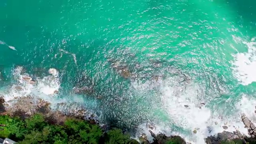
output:
[{"label": "bright white foam patch at right edge, surrounded by turquoise water", "polygon": [[248,51],[234,55],[234,75],[243,85],[256,82],[256,42],[252,38],[250,42],[243,42]]}]

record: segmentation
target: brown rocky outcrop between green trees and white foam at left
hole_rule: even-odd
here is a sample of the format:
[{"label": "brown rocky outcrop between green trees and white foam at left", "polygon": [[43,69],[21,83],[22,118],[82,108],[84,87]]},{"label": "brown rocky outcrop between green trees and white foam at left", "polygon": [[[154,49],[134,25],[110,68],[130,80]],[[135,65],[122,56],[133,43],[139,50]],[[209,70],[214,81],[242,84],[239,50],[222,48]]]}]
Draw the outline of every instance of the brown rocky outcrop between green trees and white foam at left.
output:
[{"label": "brown rocky outcrop between green trees and white foam at left", "polygon": [[[79,118],[88,120],[90,124],[98,124],[97,120],[94,120],[95,115],[89,115],[89,118],[84,117],[86,110],[74,110],[72,113],[63,113],[58,110],[52,110],[50,108],[50,102],[35,98],[32,96],[26,96],[18,98],[12,101],[8,108],[4,107],[4,98],[0,97],[0,109],[2,115],[19,116],[20,118],[26,118],[37,113],[41,113],[45,116],[45,119],[51,124],[63,124],[67,118]],[[2,108],[2,107],[3,108]]]}]

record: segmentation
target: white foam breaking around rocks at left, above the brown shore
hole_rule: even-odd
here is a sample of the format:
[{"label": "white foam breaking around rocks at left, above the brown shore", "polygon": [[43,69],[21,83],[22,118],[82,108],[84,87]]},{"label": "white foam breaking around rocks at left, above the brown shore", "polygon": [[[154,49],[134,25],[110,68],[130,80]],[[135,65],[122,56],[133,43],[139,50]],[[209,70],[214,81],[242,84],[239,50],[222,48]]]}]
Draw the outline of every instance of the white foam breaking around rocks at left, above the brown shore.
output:
[{"label": "white foam breaking around rocks at left, above the brown shore", "polygon": [[20,98],[29,97],[34,102],[38,100],[50,102],[52,110],[60,110],[69,115],[80,114],[84,115],[84,118],[89,118],[93,114],[94,119],[98,119],[97,114],[92,110],[85,110],[84,99],[80,96],[71,94],[71,99],[69,96],[64,98],[59,96],[61,80],[55,68],[50,68],[48,76],[40,78],[26,73],[22,66],[17,66],[12,70],[12,76],[13,84],[0,91],[0,96],[4,97],[9,106],[14,106],[13,104]]}]

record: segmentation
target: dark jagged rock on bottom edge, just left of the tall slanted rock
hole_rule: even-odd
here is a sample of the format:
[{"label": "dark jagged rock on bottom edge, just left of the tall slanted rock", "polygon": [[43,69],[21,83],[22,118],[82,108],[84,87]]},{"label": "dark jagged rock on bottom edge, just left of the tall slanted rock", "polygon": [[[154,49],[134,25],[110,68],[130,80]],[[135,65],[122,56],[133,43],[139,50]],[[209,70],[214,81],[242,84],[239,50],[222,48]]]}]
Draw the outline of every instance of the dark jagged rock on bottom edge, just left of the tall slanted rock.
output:
[{"label": "dark jagged rock on bottom edge, just left of the tall slanted rock", "polygon": [[240,134],[232,133],[223,131],[221,133],[218,133],[217,136],[208,136],[205,139],[206,144],[221,144],[223,141],[231,141],[231,140],[241,140],[242,142],[245,142],[243,137],[240,137]]}]

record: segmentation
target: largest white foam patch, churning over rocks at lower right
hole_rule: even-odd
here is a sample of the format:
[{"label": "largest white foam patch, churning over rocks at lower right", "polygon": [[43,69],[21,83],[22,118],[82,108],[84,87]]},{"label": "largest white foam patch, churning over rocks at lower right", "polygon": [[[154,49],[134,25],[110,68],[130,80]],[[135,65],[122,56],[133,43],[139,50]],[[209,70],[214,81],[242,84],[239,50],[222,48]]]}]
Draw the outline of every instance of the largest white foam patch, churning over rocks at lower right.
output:
[{"label": "largest white foam patch, churning over rocks at lower right", "polygon": [[[204,138],[224,130],[228,132],[239,130],[248,136],[248,131],[244,128],[240,114],[245,113],[248,118],[256,120],[255,100],[248,99],[245,95],[242,96],[236,102],[232,114],[225,116],[222,114],[222,109],[225,106],[214,110],[208,107],[211,101],[204,99],[203,94],[198,93],[200,86],[195,82],[186,86],[178,86],[173,82],[173,78],[169,78],[158,84],[162,93],[162,105],[159,107],[165,110],[170,122],[159,122],[152,119],[153,129],[149,128],[146,123],[141,124],[138,128],[137,138],[141,133],[144,133],[152,141],[153,138],[148,130],[152,130],[155,134],[179,135],[192,144],[204,144]],[[147,86],[141,86],[141,89],[145,89],[145,87]]]}]

